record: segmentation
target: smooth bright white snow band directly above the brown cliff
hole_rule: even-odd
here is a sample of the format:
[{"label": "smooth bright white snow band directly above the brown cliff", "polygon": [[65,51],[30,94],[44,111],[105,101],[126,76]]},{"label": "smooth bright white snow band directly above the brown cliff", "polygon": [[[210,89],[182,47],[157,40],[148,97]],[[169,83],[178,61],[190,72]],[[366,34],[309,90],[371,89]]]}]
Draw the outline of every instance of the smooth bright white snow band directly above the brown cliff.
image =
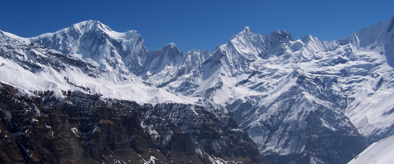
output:
[{"label": "smooth bright white snow band directly above the brown cliff", "polygon": [[[0,81],[20,89],[29,91],[56,91],[56,95],[61,96],[61,90],[84,91],[80,87],[75,87],[63,77],[67,77],[69,82],[77,86],[89,87],[92,94],[100,93],[104,98],[119,98],[133,100],[138,103],[159,102],[197,102],[197,98],[185,97],[169,93],[164,89],[147,86],[143,80],[132,75],[117,75],[116,73],[106,72],[98,78],[76,71],[78,68],[69,66],[66,71],[55,71],[52,67],[47,67],[44,71],[32,73],[15,62],[0,57]],[[15,76],[18,75],[18,76]],[[125,79],[126,80],[122,80]]]}]

